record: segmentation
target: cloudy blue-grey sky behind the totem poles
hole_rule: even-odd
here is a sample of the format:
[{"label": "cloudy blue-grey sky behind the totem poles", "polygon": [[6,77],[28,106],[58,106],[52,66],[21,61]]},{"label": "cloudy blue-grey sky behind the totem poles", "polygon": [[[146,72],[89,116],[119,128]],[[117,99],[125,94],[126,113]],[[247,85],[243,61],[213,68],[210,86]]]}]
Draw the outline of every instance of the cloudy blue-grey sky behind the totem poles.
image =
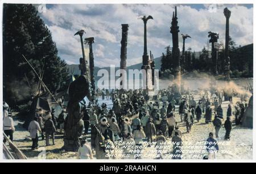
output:
[{"label": "cloudy blue-grey sky behind the totem poles", "polygon": [[[176,5],[179,34],[189,34],[186,48],[200,51],[208,42],[208,31],[220,34],[219,42],[225,42],[225,16],[228,7],[230,36],[237,45],[253,43],[253,5]],[[154,57],[159,57],[167,45],[172,46],[170,33],[171,16],[175,5],[46,5],[40,13],[56,42],[61,59],[68,64],[78,64],[82,56],[79,36],[74,34],[84,29],[85,37],[94,37],[93,53],[95,65],[119,66],[121,48],[121,24],[129,24],[127,44],[127,65],[142,62],[143,21],[142,15],[152,15],[154,20],[147,23],[147,46]],[[181,35],[179,47],[182,48]],[[89,56],[88,45],[85,55]]]}]

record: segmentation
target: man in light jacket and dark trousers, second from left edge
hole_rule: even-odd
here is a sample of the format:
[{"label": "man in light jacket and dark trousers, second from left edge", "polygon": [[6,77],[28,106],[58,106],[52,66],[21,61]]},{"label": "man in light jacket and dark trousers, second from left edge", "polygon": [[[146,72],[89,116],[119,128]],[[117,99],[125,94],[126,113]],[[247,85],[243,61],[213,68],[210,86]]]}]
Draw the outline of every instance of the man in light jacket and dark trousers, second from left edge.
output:
[{"label": "man in light jacket and dark trousers, second from left edge", "polygon": [[32,139],[31,150],[35,150],[38,148],[38,134],[39,132],[42,132],[37,117],[34,118],[34,121],[30,122],[30,125],[28,126],[28,132],[30,132],[30,137]]}]

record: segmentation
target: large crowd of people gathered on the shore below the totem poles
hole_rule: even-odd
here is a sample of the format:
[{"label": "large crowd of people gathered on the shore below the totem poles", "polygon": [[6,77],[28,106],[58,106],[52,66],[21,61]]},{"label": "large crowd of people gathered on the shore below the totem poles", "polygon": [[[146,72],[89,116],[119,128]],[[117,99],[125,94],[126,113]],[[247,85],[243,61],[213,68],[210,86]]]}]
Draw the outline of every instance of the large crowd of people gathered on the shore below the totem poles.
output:
[{"label": "large crowd of people gathered on the shore below the totem poles", "polygon": [[[160,144],[167,142],[168,139],[174,144],[172,159],[181,159],[182,151],[180,150],[183,142],[183,133],[179,130],[179,125],[184,123],[187,133],[193,130],[193,125],[200,122],[202,117],[205,123],[213,123],[215,128],[216,139],[213,138],[213,132],[209,133],[207,142],[217,142],[218,132],[222,127],[222,121],[226,118],[224,127],[226,130],[225,139],[230,139],[232,130],[232,122],[230,117],[235,116],[236,125],[242,122],[246,105],[237,102],[232,112],[232,102],[228,105],[227,113],[222,110],[223,96],[221,92],[210,93],[204,91],[200,93],[200,99],[197,102],[193,92],[187,92],[181,96],[175,93],[171,88],[160,90],[157,96],[151,100],[144,94],[143,90],[105,90],[97,89],[96,98],[89,102],[85,107],[82,117],[84,121],[84,136],[80,140],[81,146],[77,151],[77,158],[92,159],[93,151],[96,151],[96,157],[103,159],[114,158],[110,154],[113,153],[115,142],[134,142],[136,145],[134,152],[129,149],[123,149],[125,156],[133,156],[130,158],[141,159],[143,142],[149,142],[148,146],[156,147],[156,159],[163,159]],[[106,103],[99,105],[98,98],[102,100],[112,100],[113,107],[108,108]],[[112,106],[112,105],[111,105]],[[176,112],[175,112],[176,111]],[[3,107],[4,132],[13,140],[14,123],[8,114],[7,103]],[[214,119],[212,118],[214,115]],[[28,131],[32,139],[32,150],[38,148],[39,133],[42,140],[46,136],[46,146],[50,146],[49,138],[52,138],[52,144],[55,144],[55,134],[59,130],[59,134],[64,134],[65,118],[67,112],[65,108],[59,115],[55,114],[55,110],[44,112],[42,109],[36,110],[35,118],[30,122]],[[88,131],[90,127],[90,146],[87,143]],[[57,129],[58,128],[58,129]],[[101,148],[104,155],[97,156],[98,140],[97,134],[100,132],[104,137],[104,143]],[[155,143],[153,143],[155,142]],[[218,151],[217,143],[214,146],[207,145],[209,152],[208,158],[216,158]],[[110,146],[111,145],[111,146]],[[161,147],[161,148],[160,148]],[[135,154],[135,157],[134,157]]]}]

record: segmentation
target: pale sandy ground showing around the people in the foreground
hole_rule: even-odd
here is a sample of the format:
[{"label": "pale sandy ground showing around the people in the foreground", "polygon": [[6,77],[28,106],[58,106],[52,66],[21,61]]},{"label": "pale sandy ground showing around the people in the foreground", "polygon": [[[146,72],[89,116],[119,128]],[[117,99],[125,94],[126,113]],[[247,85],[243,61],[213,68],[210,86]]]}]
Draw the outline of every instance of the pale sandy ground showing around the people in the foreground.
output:
[{"label": "pale sandy ground showing around the people in the foreground", "polygon": [[[238,98],[234,98],[234,101]],[[222,104],[224,110],[224,115],[228,102]],[[176,113],[176,115],[178,115]],[[180,121],[180,117],[176,116],[177,120]],[[29,138],[29,133],[27,130],[24,130],[22,127],[22,122],[18,119],[15,120],[15,129],[14,132],[14,144],[22,150],[22,152],[27,156],[28,159],[76,159],[75,152],[65,152],[61,149],[63,147],[63,135],[56,134],[55,136],[55,146],[46,147],[46,141],[41,140],[39,137],[39,148],[37,150],[31,151],[31,139]],[[234,116],[232,117],[234,121]],[[224,121],[222,121],[224,124]],[[179,122],[179,127],[181,132],[183,132],[183,142],[188,145],[183,146],[183,159],[202,159],[203,148],[200,142],[205,141],[208,138],[209,132],[214,132],[214,127],[212,123],[206,124],[205,119],[202,117],[200,122],[194,123],[192,126],[192,131],[187,134],[187,130],[184,123]],[[220,151],[217,154],[217,159],[252,159],[253,158],[253,129],[247,129],[241,126],[233,126],[231,132],[230,141],[224,140],[225,129],[224,127],[220,130],[220,138],[218,139]],[[171,142],[171,139],[167,139],[167,142]],[[50,140],[50,144],[51,144]],[[195,145],[191,148],[191,145]],[[172,146],[172,145],[170,145]],[[169,149],[172,149],[170,147]],[[200,150],[201,153],[192,150]],[[155,147],[147,147],[142,151],[142,159],[152,159],[148,157],[148,154],[154,152]],[[122,152],[122,151],[121,151]],[[121,153],[119,152],[119,153]],[[164,159],[171,159],[170,151],[167,154],[163,154]],[[94,157],[95,158],[95,157]]]}]

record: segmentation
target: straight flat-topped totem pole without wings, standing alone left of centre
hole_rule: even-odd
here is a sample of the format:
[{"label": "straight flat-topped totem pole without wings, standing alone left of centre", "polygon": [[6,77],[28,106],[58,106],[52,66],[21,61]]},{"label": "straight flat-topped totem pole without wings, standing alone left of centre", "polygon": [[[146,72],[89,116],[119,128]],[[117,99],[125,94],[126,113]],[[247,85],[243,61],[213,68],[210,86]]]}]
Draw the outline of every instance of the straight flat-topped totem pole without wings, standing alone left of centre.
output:
[{"label": "straight flat-topped totem pole without wings, standing alone left of centre", "polygon": [[[128,37],[128,24],[122,24],[122,40],[121,40],[121,54],[120,54],[120,69],[126,71],[126,59],[127,59],[127,37]],[[120,89],[123,89],[123,74],[120,74]],[[126,77],[125,77],[126,78]]]}]

